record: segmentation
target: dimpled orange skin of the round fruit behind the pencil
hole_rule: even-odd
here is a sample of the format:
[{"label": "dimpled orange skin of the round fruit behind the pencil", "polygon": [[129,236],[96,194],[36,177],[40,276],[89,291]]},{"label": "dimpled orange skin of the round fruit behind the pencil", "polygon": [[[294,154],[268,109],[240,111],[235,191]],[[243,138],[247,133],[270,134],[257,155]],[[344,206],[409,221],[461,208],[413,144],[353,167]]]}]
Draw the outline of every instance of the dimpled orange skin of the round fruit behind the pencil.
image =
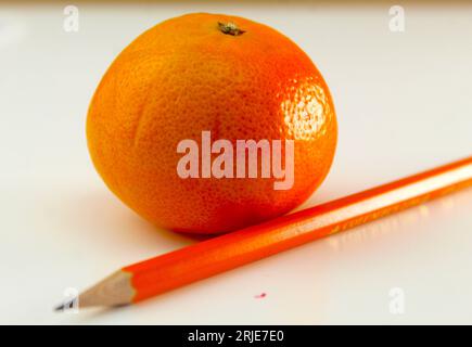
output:
[{"label": "dimpled orange skin of the round fruit behind the pencil", "polygon": [[[225,34],[218,23],[244,33]],[[201,144],[203,130],[234,144],[294,140],[292,189],[275,190],[280,179],[260,176],[181,179],[177,144]],[[294,42],[266,25],[206,13],[165,21],[130,43],[87,119],[89,151],[109,188],[156,226],[189,233],[241,229],[299,205],[327,176],[336,133],[328,86]]]}]

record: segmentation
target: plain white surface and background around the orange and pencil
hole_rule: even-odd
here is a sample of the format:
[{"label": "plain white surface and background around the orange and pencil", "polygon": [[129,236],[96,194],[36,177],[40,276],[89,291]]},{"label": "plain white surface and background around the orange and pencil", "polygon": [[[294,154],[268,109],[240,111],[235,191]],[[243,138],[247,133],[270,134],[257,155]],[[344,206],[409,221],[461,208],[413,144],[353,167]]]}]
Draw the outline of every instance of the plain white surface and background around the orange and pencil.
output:
[{"label": "plain white surface and background around the orange and pencil", "polygon": [[[391,33],[388,2],[78,4],[79,31],[66,33],[66,4],[0,5],[0,323],[472,323],[471,190],[133,307],[53,313],[67,287],[195,242],[118,202],[86,146],[102,74],[165,18],[246,16],[311,56],[340,141],[304,206],[472,153],[472,7],[405,5],[405,33]],[[390,311],[395,287],[403,314]]]}]

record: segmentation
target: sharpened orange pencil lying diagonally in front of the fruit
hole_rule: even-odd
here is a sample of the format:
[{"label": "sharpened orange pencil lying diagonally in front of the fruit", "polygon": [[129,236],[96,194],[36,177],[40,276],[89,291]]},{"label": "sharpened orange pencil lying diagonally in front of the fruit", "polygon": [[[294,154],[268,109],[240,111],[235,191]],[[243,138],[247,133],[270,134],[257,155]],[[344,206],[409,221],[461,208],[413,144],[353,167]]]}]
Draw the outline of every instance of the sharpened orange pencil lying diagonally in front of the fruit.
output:
[{"label": "sharpened orange pencil lying diagonally in front of the fruit", "polygon": [[[127,266],[78,296],[122,306],[234,269],[472,185],[472,156]],[[73,307],[74,301],[56,310]]]}]

